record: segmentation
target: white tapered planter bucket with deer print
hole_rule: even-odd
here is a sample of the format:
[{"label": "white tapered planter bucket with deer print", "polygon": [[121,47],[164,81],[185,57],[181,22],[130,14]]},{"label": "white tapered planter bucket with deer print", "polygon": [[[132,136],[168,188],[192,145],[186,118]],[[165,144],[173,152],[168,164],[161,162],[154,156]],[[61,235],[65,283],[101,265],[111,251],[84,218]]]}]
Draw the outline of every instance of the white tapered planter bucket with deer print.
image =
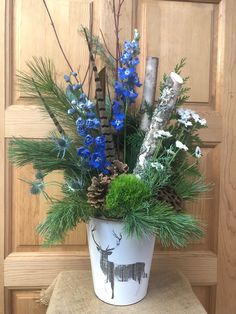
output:
[{"label": "white tapered planter bucket with deer print", "polygon": [[127,238],[123,224],[91,218],[87,225],[95,294],[114,305],[142,300],[148,288],[155,237]]}]

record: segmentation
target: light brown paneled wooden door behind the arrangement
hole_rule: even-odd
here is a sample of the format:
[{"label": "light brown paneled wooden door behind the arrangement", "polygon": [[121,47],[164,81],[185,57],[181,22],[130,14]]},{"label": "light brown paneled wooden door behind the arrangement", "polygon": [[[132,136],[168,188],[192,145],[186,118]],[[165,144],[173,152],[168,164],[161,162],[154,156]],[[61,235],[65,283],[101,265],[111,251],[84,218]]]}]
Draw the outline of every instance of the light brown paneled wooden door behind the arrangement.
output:
[{"label": "light brown paneled wooden door behind the arrangement", "polygon": [[[81,24],[103,30],[112,47],[114,36],[109,1],[47,0],[55,25],[72,65],[86,70],[88,53],[78,35]],[[85,227],[78,226],[63,245],[40,246],[34,232],[47,210],[43,198],[30,196],[19,178],[33,178],[31,167],[16,169],[7,161],[11,136],[43,138],[53,127],[32,99],[16,88],[16,70],[25,69],[32,56],[54,60],[58,75],[68,72],[42,1],[2,0],[0,3],[0,280],[5,271],[5,313],[45,313],[35,300],[38,291],[66,269],[89,269]],[[134,26],[142,35],[140,75],[147,55],[160,58],[159,79],[187,57],[184,74],[191,77],[189,106],[204,116],[202,169],[215,183],[210,199],[189,204],[207,224],[207,237],[183,251],[161,250],[154,267],[180,268],[209,313],[236,312],[236,13],[235,0],[158,1],[126,0],[121,39]],[[4,175],[3,175],[4,174]],[[58,175],[58,174],[56,174]],[[56,191],[52,190],[52,193]],[[3,250],[4,248],[4,250]],[[0,285],[0,313],[3,288]]]}]

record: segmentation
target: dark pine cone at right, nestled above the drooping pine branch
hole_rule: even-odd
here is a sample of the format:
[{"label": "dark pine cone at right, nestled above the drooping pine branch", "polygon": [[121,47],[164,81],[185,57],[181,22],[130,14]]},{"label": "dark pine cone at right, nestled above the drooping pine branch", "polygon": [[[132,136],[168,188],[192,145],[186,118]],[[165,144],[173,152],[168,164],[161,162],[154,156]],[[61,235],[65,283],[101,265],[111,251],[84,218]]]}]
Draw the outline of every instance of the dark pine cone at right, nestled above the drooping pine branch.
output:
[{"label": "dark pine cone at right, nestled above the drooping pine branch", "polygon": [[157,199],[169,203],[176,211],[183,209],[183,200],[171,187],[163,187],[158,191]]}]

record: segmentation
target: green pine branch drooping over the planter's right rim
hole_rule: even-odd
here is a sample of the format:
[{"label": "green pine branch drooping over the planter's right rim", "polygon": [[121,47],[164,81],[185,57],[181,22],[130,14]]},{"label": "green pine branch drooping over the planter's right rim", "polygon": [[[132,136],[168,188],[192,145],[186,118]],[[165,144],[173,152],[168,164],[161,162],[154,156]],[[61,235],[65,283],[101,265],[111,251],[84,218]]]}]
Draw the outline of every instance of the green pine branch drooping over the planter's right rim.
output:
[{"label": "green pine branch drooping over the planter's right rim", "polygon": [[178,213],[166,203],[142,204],[124,217],[128,236],[156,235],[165,247],[182,248],[204,236],[200,222],[191,215]]}]

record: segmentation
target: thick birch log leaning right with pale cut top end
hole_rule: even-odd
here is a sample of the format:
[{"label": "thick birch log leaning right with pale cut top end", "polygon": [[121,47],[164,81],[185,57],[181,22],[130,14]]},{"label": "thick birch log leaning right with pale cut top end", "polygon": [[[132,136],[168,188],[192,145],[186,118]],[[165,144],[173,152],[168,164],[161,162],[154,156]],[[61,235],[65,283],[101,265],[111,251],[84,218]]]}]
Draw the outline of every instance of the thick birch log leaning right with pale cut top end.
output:
[{"label": "thick birch log leaning right with pale cut top end", "polygon": [[159,104],[153,113],[149,131],[143,140],[137,164],[133,171],[136,176],[142,176],[146,162],[153,157],[159,141],[158,131],[163,130],[170,120],[182,85],[182,78],[177,73],[171,72],[159,98]]}]

